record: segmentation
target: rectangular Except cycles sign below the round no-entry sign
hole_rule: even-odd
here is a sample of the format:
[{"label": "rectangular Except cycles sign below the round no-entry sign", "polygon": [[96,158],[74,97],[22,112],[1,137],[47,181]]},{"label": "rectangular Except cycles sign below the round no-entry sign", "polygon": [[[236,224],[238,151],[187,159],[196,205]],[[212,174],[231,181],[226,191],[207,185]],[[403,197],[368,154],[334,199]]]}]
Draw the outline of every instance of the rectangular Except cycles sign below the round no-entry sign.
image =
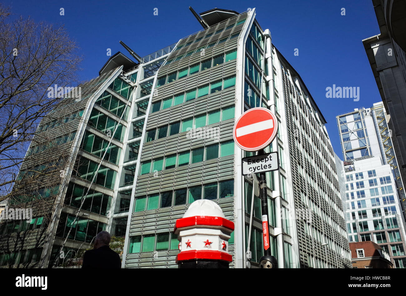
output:
[{"label": "rectangular Except cycles sign below the round no-entry sign", "polygon": [[242,175],[279,169],[278,152],[254,155],[242,159]]}]

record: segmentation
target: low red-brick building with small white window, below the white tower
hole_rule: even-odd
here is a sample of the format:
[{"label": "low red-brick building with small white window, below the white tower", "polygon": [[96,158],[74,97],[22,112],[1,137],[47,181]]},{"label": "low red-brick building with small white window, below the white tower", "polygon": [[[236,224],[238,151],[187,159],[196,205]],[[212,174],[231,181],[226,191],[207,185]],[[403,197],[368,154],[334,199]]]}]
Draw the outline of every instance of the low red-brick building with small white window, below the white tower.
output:
[{"label": "low red-brick building with small white window, below the white tower", "polygon": [[350,243],[352,268],[392,268],[389,254],[373,241]]}]

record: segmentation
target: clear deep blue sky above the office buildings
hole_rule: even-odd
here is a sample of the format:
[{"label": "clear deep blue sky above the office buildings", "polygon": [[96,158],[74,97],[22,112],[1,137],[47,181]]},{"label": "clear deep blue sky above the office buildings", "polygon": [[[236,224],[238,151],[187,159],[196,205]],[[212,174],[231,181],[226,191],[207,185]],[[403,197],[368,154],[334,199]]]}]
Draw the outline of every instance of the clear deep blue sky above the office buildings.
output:
[{"label": "clear deep blue sky above the office buildings", "polygon": [[[82,80],[96,77],[112,54],[127,52],[123,40],[144,56],[202,29],[190,13],[218,7],[238,12],[256,8],[262,29],[270,29],[272,43],[298,71],[327,120],[334,151],[342,158],[336,115],[381,100],[362,39],[379,34],[370,0],[284,1],[20,1],[6,0],[16,15],[34,21],[64,23],[84,60]],[[65,15],[60,15],[60,8]],[[158,8],[158,15],[153,15]],[[341,15],[341,8],[346,15]],[[298,49],[298,56],[294,49]],[[128,55],[129,56],[129,55]],[[326,98],[326,87],[360,87],[360,100]]]}]

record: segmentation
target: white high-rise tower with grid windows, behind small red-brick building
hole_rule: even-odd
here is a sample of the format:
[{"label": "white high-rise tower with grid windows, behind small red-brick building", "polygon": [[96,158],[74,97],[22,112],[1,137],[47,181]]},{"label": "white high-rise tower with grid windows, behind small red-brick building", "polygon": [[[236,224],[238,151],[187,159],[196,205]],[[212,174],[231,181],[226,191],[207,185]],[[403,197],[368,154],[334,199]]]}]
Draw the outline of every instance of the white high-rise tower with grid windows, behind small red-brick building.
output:
[{"label": "white high-rise tower with grid windows, behind small red-brick building", "polygon": [[382,102],[337,116],[346,175],[350,242],[374,241],[406,267],[404,190]]}]

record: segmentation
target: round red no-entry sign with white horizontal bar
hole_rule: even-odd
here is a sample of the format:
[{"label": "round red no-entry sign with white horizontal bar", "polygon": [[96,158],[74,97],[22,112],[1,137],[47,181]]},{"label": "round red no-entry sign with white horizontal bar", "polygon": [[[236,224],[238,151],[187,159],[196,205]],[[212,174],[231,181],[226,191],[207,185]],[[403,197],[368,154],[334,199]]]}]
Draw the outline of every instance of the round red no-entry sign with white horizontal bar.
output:
[{"label": "round red no-entry sign with white horizontal bar", "polygon": [[266,108],[257,107],[244,112],[235,121],[235,144],[245,151],[258,151],[271,143],[278,132],[278,119]]}]

